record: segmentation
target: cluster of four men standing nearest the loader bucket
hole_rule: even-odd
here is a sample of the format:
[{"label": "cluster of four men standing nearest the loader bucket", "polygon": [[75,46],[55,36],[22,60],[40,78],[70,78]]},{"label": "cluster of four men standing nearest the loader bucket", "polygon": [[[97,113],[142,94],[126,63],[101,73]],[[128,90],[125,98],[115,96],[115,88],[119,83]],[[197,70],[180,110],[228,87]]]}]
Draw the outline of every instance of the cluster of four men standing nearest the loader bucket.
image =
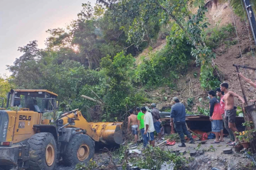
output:
[{"label": "cluster of four men standing nearest the loader bucket", "polygon": [[[147,111],[146,107],[136,108],[136,114],[133,114],[133,110],[129,110],[130,116],[128,117],[128,133],[130,132],[130,125],[132,125],[132,134],[134,135],[135,144],[138,146],[138,134],[141,132],[143,146],[146,147],[149,144],[155,146],[154,132],[158,133],[158,140],[162,140],[160,112],[156,108],[156,104],[151,104],[151,113]],[[157,142],[156,141],[156,142]]]}]

